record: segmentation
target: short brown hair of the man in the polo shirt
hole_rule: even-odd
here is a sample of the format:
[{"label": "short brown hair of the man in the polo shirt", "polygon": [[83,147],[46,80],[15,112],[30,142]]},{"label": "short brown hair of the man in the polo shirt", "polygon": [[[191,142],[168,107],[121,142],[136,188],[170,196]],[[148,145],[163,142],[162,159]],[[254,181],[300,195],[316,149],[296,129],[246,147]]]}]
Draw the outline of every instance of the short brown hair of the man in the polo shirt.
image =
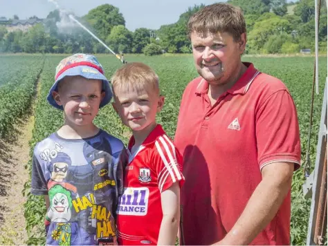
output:
[{"label": "short brown hair of the man in the polo shirt", "polygon": [[242,10],[229,3],[214,3],[194,13],[188,21],[188,35],[197,32],[208,33],[228,32],[234,41],[240,40],[240,35],[246,33],[246,23]]}]

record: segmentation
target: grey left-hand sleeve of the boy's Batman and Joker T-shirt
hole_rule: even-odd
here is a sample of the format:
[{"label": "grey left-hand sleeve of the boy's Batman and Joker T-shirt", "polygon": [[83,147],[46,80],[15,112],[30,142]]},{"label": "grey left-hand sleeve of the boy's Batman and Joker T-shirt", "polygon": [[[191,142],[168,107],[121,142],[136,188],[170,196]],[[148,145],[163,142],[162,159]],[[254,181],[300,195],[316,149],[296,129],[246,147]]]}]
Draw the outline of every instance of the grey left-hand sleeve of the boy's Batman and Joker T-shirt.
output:
[{"label": "grey left-hand sleeve of the boy's Batman and Joker T-shirt", "polygon": [[32,178],[31,178],[31,193],[33,195],[48,195],[47,182],[44,178],[44,172],[37,160],[35,153],[32,158]]}]

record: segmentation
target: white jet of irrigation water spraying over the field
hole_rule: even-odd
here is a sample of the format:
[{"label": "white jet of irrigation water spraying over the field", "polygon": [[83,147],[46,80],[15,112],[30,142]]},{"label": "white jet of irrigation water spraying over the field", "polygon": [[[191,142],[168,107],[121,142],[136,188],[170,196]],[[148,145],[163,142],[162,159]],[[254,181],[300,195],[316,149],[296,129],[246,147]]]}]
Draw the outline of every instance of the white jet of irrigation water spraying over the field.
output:
[{"label": "white jet of irrigation water spraying over the field", "polygon": [[60,29],[63,28],[71,28],[74,26],[74,23],[72,23],[71,21],[69,21],[69,19],[71,19],[72,21],[75,21],[75,23],[78,23],[78,25],[83,28],[84,30],[86,30],[86,32],[89,32],[89,34],[95,38],[96,40],[98,40],[100,42],[100,44],[102,44],[105,48],[107,48],[107,50],[109,50],[111,53],[113,53],[113,55],[115,55],[118,59],[121,59],[120,55],[117,55],[116,53],[113,52],[113,50],[111,50],[111,48],[109,48],[106,44],[104,44],[103,41],[101,41],[97,36],[95,36],[88,28],[86,28],[82,23],[80,23],[80,21],[78,21],[77,19],[75,19],[73,17],[73,15],[70,15],[66,12],[66,10],[64,10],[63,8],[60,8],[60,5],[57,3],[57,1],[55,0],[48,0],[51,3],[55,4],[57,10],[60,11],[60,22],[56,23],[57,27]]}]

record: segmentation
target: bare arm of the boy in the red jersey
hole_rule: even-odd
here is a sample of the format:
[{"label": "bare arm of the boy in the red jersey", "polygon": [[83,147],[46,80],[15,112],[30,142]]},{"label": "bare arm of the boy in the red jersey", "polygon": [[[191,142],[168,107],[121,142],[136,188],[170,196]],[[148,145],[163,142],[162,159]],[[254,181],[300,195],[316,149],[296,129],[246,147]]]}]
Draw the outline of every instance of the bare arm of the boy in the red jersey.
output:
[{"label": "bare arm of the boy in the red jersey", "polygon": [[163,219],[158,235],[158,245],[174,245],[180,220],[180,187],[175,182],[161,193]]}]

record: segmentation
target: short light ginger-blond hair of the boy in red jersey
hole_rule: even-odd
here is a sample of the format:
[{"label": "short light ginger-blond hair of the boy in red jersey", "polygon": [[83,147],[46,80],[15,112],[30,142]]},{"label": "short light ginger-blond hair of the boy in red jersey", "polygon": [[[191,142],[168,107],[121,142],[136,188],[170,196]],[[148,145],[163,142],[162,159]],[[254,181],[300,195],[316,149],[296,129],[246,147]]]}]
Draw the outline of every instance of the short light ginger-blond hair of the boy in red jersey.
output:
[{"label": "short light ginger-blond hair of the boy in red jersey", "polygon": [[147,91],[159,95],[158,75],[142,62],[125,64],[111,77],[113,93],[117,90]]}]

